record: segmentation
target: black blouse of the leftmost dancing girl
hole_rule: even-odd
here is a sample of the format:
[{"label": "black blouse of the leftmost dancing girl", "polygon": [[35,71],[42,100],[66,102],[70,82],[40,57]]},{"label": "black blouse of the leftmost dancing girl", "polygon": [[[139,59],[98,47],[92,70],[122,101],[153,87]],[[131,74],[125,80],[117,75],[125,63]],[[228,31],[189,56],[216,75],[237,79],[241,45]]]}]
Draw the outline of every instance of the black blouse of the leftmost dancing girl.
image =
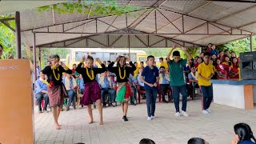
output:
[{"label": "black blouse of the leftmost dancing girl", "polygon": [[[58,74],[60,75],[58,80],[54,77],[54,73],[57,78],[58,78]],[[54,69],[54,71],[51,69],[50,66],[46,66],[42,70],[42,74],[46,74],[48,77],[47,81],[48,82],[53,81],[54,85],[62,84],[62,73],[72,74],[72,70],[70,70],[70,69],[65,70],[62,66],[58,66],[58,68]]]}]

